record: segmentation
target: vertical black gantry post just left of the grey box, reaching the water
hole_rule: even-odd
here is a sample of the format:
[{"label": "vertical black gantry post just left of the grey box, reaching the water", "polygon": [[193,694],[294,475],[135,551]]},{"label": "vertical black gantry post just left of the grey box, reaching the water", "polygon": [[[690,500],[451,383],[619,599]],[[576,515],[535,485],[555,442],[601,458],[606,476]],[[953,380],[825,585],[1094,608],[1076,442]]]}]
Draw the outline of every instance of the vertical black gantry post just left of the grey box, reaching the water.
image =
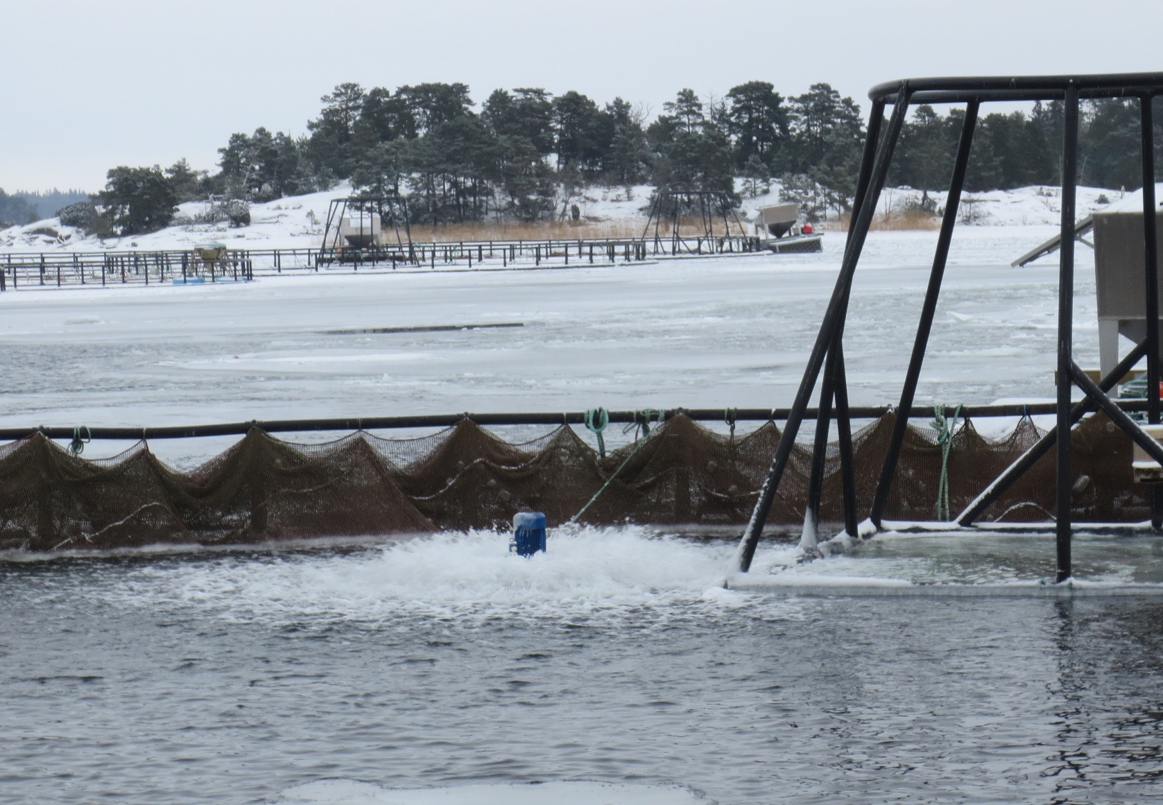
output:
[{"label": "vertical black gantry post just left of the grey box, reaching the water", "polygon": [[[1070,578],[1070,505],[1073,475],[1070,466],[1070,382],[1073,363],[1075,312],[1075,185],[1078,180],[1078,87],[1066,88],[1065,120],[1062,137],[1062,242],[1058,247],[1058,422],[1063,437],[1058,441],[1057,505],[1055,540],[1057,548],[1056,580]],[[1150,343],[1148,342],[1148,349]],[[1157,349],[1157,347],[1156,347]]]}]

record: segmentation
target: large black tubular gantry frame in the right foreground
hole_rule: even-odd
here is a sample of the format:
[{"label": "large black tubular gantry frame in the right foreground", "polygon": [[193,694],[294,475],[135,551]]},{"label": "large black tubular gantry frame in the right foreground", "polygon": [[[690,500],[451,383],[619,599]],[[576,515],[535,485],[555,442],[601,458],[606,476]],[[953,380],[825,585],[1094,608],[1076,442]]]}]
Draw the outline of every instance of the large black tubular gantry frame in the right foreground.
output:
[{"label": "large black tubular gantry frame in the right foreground", "polygon": [[[905,375],[900,393],[900,405],[897,408],[896,423],[889,450],[882,466],[879,483],[872,501],[869,520],[879,529],[882,518],[889,501],[889,493],[896,477],[897,461],[908,427],[908,415],[916,393],[916,384],[921,373],[921,364],[928,347],[929,332],[936,313],[937,298],[941,293],[941,280],[949,256],[949,244],[952,240],[954,225],[957,221],[957,207],[961,201],[973,142],[973,130],[977,126],[979,107],[990,101],[1062,101],[1064,109],[1062,143],[1062,223],[1061,250],[1058,259],[1058,337],[1057,337],[1057,401],[1055,413],[1057,423],[1037,443],[1022,454],[1009,468],[998,476],[986,489],[957,515],[956,526],[969,527],[983,512],[1033,464],[1053,448],[1058,441],[1058,434],[1066,434],[1063,440],[1069,448],[1071,427],[1089,412],[1101,409],[1111,420],[1127,433],[1155,461],[1163,464],[1163,447],[1148,436],[1108,396],[1108,392],[1121,380],[1130,368],[1141,358],[1147,357],[1147,420],[1160,422],[1160,322],[1158,322],[1158,276],[1157,276],[1157,233],[1155,220],[1155,142],[1154,121],[1151,115],[1153,99],[1163,93],[1163,73],[1115,73],[1096,76],[1027,76],[1027,77],[980,77],[980,78],[919,78],[879,84],[869,92],[872,108],[869,114],[868,138],[861,161],[861,171],[856,185],[852,205],[851,228],[844,247],[840,276],[833,288],[832,298],[823,314],[823,321],[816,335],[815,343],[808,356],[807,369],[800,380],[794,403],[787,415],[786,426],[776,448],[771,468],[763,483],[759,498],[751,513],[740,542],[737,554],[739,570],[747,572],[751,567],[755,549],[763,534],[763,526],[771,511],[772,501],[784,470],[795,443],[800,425],[816,382],[823,371],[820,389],[820,403],[816,408],[816,432],[812,454],[812,470],[808,478],[807,511],[805,512],[805,529],[813,528],[819,519],[820,496],[823,483],[825,457],[828,442],[828,429],[835,415],[839,430],[840,461],[844,498],[844,529],[857,535],[856,483],[852,466],[851,428],[849,425],[848,390],[844,380],[843,332],[848,312],[848,297],[851,291],[856,265],[868,237],[872,216],[876,212],[880,191],[884,187],[893,149],[900,137],[905,115],[913,104],[965,104],[965,117],[962,124],[957,154],[954,159],[952,177],[949,181],[949,197],[946,202],[941,231],[937,236],[933,269],[929,275],[925,301],[921,306],[916,337]],[[1146,254],[1146,314],[1147,337],[1137,344],[1099,383],[1091,380],[1072,356],[1073,339],[1073,279],[1075,279],[1075,191],[1078,179],[1078,107],[1084,99],[1128,98],[1136,99],[1140,107],[1142,181],[1143,181],[1143,245]],[[892,105],[892,116],[887,127],[883,127],[885,107]],[[882,128],[885,130],[882,133]],[[1071,405],[1071,391],[1078,386],[1085,394],[1084,399]],[[834,408],[834,411],[833,411]],[[1056,485],[1057,504],[1055,511],[1055,536],[1057,551],[1058,582],[1071,576],[1071,490],[1075,479],[1071,473],[1071,455],[1069,449],[1057,450]],[[1153,492],[1151,523],[1158,529],[1163,527],[1163,494],[1158,487]]]}]

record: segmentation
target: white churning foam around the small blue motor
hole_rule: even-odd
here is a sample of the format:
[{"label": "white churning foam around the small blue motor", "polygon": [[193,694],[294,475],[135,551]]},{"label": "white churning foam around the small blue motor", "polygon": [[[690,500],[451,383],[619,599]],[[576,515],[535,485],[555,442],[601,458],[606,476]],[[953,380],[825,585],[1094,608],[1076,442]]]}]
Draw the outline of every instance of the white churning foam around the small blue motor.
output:
[{"label": "white churning foam around the small blue motor", "polygon": [[198,606],[263,621],[737,606],[742,597],[722,590],[734,549],[636,527],[583,528],[551,534],[548,553],[522,558],[508,551],[506,534],[443,533],[354,553],[151,563],[127,574],[112,594],[133,605]]}]

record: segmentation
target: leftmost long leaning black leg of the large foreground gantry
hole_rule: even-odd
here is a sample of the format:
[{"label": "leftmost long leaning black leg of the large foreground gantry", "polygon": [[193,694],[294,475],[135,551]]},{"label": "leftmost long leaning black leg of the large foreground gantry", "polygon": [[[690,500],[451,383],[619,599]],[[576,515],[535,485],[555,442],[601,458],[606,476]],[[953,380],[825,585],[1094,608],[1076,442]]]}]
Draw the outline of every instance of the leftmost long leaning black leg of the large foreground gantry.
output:
[{"label": "leftmost long leaning black leg of the large foreground gantry", "polygon": [[815,380],[820,375],[820,369],[823,366],[823,359],[828,347],[832,344],[833,336],[841,325],[843,306],[851,286],[852,275],[856,271],[856,263],[861,250],[864,248],[864,240],[868,236],[869,227],[872,225],[872,214],[876,212],[876,202],[880,195],[880,188],[884,186],[885,176],[889,173],[889,162],[892,159],[892,150],[897,144],[897,138],[900,136],[900,128],[905,122],[905,113],[908,111],[909,95],[911,92],[906,83],[901,85],[900,92],[897,93],[892,120],[889,123],[885,138],[878,148],[876,166],[872,170],[869,188],[864,200],[861,202],[859,215],[855,221],[854,230],[849,236],[848,245],[844,250],[844,259],[841,264],[840,276],[836,278],[836,286],[832,292],[832,299],[828,301],[828,308],[823,314],[823,322],[820,325],[815,344],[812,347],[812,352],[808,356],[807,368],[804,371],[804,378],[800,380],[799,390],[795,392],[795,401],[789,413],[784,433],[780,435],[779,444],[776,447],[771,469],[768,470],[768,476],[759,491],[759,498],[756,500],[755,508],[751,512],[751,520],[748,522],[747,529],[743,532],[743,537],[740,541],[740,550],[736,560],[741,572],[747,572],[751,567],[755,549],[759,543],[759,536],[763,534],[763,523],[771,511],[776,490],[779,487],[779,480],[787,465],[792,447],[795,444],[795,435],[799,433],[800,423],[804,421],[804,412],[807,409],[812,390],[815,387]]}]

